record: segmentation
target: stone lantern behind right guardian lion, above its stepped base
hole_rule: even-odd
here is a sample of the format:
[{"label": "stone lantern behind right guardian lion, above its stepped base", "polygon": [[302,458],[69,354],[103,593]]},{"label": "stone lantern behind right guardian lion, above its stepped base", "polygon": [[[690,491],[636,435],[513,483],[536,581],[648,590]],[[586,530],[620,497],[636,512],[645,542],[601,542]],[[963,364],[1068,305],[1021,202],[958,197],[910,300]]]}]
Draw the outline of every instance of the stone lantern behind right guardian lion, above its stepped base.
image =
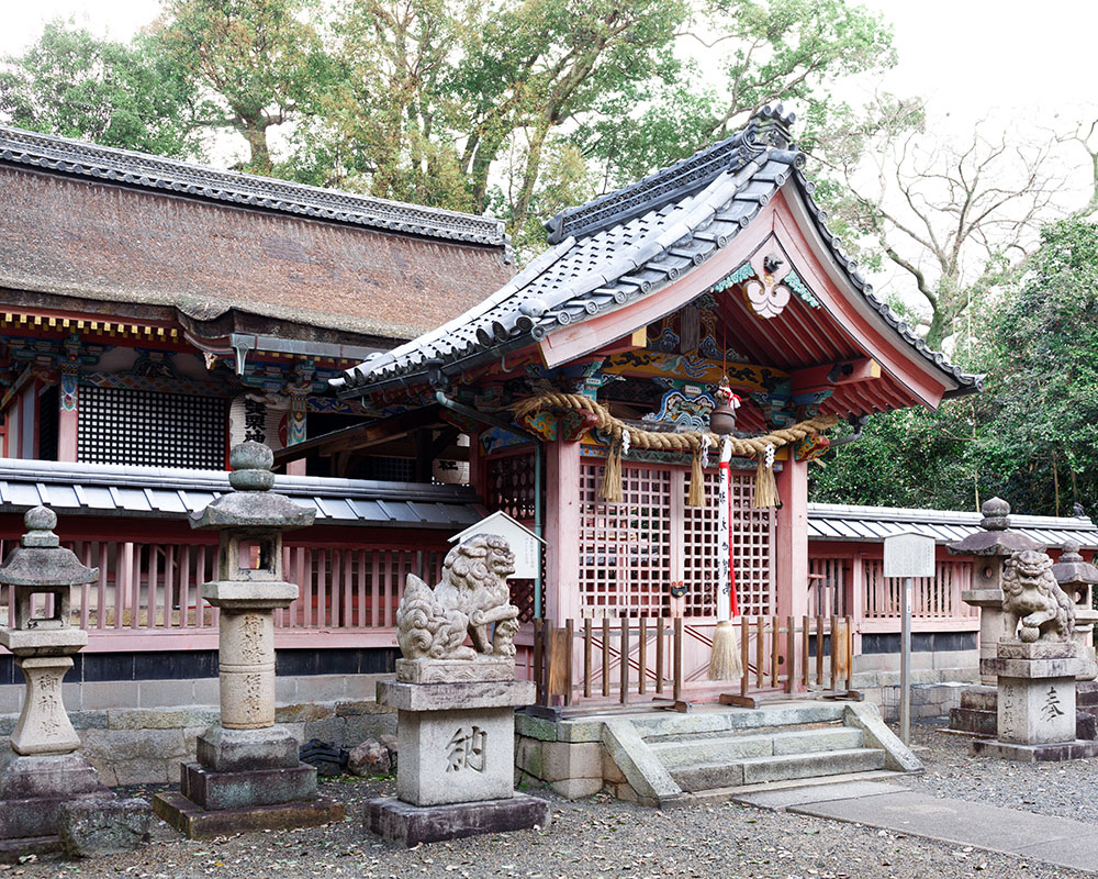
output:
[{"label": "stone lantern behind right guardian lion, above its stepped base", "polygon": [[975,556],[973,559],[972,589],[961,593],[962,600],[979,608],[979,680],[994,686],[994,670],[999,642],[1012,638],[1013,632],[1005,631],[1002,615],[1002,563],[1012,553],[1023,549],[1040,550],[1043,544],[1024,534],[1010,531],[1010,504],[1001,498],[991,498],[979,508],[983,531],[970,534],[963,541],[946,544],[953,555]]}]

